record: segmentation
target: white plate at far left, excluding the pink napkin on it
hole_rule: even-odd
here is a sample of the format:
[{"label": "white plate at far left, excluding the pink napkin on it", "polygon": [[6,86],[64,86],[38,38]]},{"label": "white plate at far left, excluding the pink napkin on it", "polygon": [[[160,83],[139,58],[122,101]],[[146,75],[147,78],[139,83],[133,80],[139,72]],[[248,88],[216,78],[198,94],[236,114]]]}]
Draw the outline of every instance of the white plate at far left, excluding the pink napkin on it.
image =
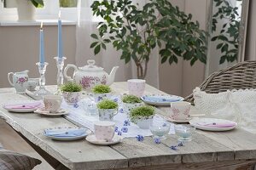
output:
[{"label": "white plate at far left, excluding the pink napkin on it", "polygon": [[28,113],[28,112],[33,112],[36,111],[38,109],[38,107],[32,107],[32,108],[9,108],[9,105],[26,105],[28,103],[38,103],[38,107],[40,106],[40,102],[38,101],[15,101],[14,103],[9,103],[9,104],[5,104],[3,105],[3,109],[6,109],[7,111],[11,111],[11,112],[17,112],[17,113]]}]

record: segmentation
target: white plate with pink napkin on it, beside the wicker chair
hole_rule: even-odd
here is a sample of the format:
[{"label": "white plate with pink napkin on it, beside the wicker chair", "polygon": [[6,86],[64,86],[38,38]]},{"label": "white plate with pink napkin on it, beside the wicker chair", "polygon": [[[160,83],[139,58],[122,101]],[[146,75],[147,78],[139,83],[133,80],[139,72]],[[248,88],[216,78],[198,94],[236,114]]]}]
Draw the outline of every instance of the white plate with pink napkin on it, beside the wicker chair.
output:
[{"label": "white plate with pink napkin on it, beside the wicker chair", "polygon": [[236,122],[215,118],[194,118],[189,123],[198,129],[207,131],[228,131],[237,126]]}]

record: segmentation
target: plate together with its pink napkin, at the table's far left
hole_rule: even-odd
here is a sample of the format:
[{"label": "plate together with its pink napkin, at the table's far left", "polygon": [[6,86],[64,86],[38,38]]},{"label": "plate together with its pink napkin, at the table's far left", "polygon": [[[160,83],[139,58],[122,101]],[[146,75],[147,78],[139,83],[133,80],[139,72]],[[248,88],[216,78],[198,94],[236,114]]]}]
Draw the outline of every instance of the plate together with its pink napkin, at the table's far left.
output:
[{"label": "plate together with its pink napkin, at the table's far left", "polygon": [[39,101],[16,101],[3,105],[3,109],[11,112],[27,113],[36,111],[41,105],[42,103]]}]

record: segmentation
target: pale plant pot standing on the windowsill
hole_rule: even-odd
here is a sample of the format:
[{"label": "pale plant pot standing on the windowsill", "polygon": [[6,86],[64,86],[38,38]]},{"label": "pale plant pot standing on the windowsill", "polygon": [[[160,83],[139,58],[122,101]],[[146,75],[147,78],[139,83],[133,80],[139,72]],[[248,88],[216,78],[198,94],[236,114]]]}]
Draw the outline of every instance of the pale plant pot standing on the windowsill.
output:
[{"label": "pale plant pot standing on the windowsill", "polygon": [[30,0],[16,0],[18,10],[18,20],[34,20],[35,10]]}]

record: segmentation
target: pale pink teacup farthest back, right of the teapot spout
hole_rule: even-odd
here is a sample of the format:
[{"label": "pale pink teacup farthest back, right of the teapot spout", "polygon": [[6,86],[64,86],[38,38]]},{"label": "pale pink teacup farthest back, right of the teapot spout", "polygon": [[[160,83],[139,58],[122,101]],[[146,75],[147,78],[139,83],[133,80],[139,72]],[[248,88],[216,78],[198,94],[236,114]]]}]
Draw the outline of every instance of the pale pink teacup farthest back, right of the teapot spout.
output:
[{"label": "pale pink teacup farthest back, right of the teapot spout", "polygon": [[130,79],[128,82],[128,90],[129,94],[136,95],[137,97],[141,97],[144,94],[144,90],[146,87],[146,81],[142,79]]}]

